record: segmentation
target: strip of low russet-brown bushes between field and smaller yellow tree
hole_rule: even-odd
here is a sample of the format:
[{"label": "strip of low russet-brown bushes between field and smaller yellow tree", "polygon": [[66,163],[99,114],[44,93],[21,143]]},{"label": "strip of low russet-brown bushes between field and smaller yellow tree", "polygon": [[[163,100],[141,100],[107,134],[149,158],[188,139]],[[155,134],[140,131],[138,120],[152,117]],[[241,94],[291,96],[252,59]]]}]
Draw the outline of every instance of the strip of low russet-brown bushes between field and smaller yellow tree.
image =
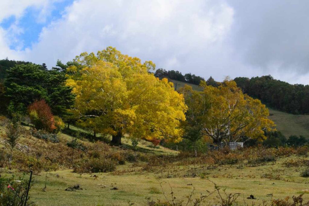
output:
[{"label": "strip of low russet-brown bushes between field and smaller yellow tree", "polygon": [[150,157],[143,170],[158,172],[162,168],[169,168],[169,164],[175,162],[176,166],[189,165],[234,165],[246,164],[247,166],[258,166],[267,162],[276,161],[277,157],[290,156],[292,154],[306,155],[308,147],[278,147],[278,148],[243,148],[230,150],[228,147],[219,150],[212,150],[206,153],[199,153],[196,158],[191,152],[181,151],[177,156],[154,156]]}]

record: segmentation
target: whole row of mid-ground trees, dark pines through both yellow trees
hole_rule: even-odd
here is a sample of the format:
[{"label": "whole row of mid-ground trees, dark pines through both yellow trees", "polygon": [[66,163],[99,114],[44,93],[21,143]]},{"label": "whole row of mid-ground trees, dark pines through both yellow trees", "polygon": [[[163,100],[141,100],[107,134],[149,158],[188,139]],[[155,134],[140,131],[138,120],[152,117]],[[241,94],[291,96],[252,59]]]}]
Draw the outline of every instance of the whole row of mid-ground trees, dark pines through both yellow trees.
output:
[{"label": "whole row of mid-ground trees, dark pines through both yellow trees", "polygon": [[[59,132],[64,120],[94,137],[112,136],[115,145],[124,135],[195,144],[264,140],[274,126],[265,105],[231,79],[219,83],[198,77],[203,91],[186,85],[177,92],[167,78],[156,78],[153,62],[142,63],[112,47],[81,53],[66,64],[57,61],[49,70],[45,64],[11,63],[0,84],[1,113],[28,116],[47,132]],[[186,81],[190,77],[196,76],[186,74]]]}]

